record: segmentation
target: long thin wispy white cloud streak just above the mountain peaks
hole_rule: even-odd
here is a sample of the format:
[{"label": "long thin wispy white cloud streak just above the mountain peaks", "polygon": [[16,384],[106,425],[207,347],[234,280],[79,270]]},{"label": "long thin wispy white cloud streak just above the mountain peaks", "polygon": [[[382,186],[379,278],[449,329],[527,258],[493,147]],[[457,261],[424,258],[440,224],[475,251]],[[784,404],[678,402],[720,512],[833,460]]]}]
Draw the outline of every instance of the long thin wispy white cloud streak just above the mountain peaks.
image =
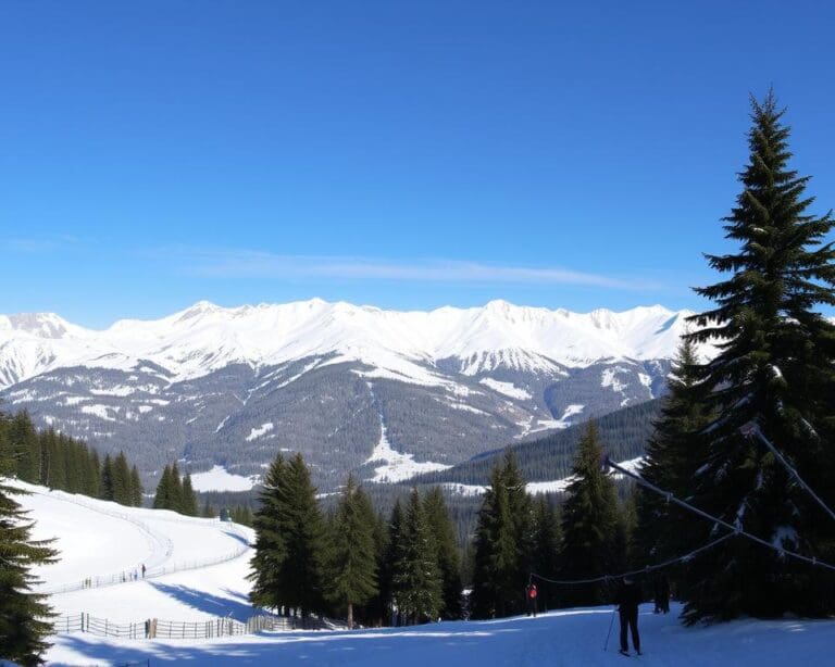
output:
[{"label": "long thin wispy white cloud streak just above the mountain peaks", "polygon": [[454,260],[391,260],[282,255],[248,250],[165,248],[157,253],[189,275],[217,278],[333,278],[482,285],[564,285],[622,290],[658,288],[648,280],[564,267],[532,267]]}]

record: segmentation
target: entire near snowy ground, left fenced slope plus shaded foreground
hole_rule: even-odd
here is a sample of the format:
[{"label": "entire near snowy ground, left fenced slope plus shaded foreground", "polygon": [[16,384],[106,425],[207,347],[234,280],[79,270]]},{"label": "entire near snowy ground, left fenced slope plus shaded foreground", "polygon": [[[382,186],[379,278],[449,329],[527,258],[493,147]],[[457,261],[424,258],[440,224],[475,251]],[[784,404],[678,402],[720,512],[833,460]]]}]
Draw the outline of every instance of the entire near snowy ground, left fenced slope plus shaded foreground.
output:
[{"label": "entire near snowy ground, left fenced slope plus shaded foreground", "polygon": [[[171,512],[122,507],[84,496],[25,486],[35,533],[57,537],[63,562],[41,567],[45,589],[60,588],[97,572],[132,572],[154,564],[145,581],[53,594],[60,615],[84,612],[112,622],[147,618],[183,622],[217,617],[244,620],[253,614],[246,580],[251,551],[242,527],[192,519]],[[235,555],[238,553],[239,555]],[[222,563],[159,575],[194,561]],[[647,665],[828,664],[833,621],[743,620],[685,629],[675,616],[640,616]],[[458,665],[623,665],[615,629],[603,651],[611,607],[565,609],[537,618],[441,622],[377,630],[261,632],[211,640],[102,639],[73,632],[53,635],[50,665],[141,663],[190,665],[304,664],[402,667]]]}]

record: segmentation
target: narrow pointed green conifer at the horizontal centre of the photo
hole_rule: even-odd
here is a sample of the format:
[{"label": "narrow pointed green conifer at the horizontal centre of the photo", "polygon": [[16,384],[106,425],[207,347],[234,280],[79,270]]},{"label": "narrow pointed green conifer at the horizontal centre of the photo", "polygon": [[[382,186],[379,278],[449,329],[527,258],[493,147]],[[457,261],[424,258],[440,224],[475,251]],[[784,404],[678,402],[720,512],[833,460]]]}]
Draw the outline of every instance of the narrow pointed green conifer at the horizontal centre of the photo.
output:
[{"label": "narrow pointed green conifer at the horizontal centre of the photo", "polygon": [[412,490],[403,516],[392,584],[395,603],[407,622],[437,618],[443,604],[437,548],[418,489]]}]

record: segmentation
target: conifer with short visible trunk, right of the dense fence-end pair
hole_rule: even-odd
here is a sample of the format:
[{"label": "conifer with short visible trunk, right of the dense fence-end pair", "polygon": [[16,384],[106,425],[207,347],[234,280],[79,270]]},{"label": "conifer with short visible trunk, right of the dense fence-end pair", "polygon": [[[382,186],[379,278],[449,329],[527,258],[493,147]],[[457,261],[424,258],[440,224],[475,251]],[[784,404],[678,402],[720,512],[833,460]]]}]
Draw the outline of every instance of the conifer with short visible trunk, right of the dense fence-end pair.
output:
[{"label": "conifer with short visible trunk, right of the dense fence-end pair", "polygon": [[347,609],[350,630],[354,605],[364,604],[377,592],[374,513],[353,476],[348,477],[328,532],[325,592],[331,602]]}]

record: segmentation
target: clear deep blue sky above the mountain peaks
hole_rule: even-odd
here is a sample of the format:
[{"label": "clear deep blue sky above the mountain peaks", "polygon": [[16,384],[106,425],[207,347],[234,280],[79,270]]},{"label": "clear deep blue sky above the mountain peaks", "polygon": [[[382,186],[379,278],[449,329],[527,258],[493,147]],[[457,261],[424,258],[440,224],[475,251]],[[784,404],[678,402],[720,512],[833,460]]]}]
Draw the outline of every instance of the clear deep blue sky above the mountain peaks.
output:
[{"label": "clear deep blue sky above the mountain peaks", "polygon": [[705,305],[748,92],[835,206],[823,2],[4,2],[0,312]]}]

